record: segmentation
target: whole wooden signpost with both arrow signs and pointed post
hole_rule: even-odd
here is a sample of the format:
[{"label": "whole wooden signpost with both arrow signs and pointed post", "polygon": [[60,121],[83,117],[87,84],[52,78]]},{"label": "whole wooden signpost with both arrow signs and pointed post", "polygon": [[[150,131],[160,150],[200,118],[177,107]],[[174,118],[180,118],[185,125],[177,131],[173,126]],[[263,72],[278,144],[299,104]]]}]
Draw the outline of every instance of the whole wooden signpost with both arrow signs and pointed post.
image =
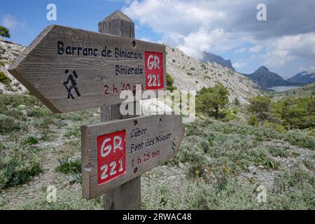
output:
[{"label": "whole wooden signpost with both arrow signs and pointed post", "polygon": [[52,112],[102,106],[102,123],[81,127],[83,197],[104,195],[104,209],[140,209],[140,175],[176,155],[184,129],[175,115],[118,120],[120,92],[166,89],[165,45],[135,40],[120,11],[99,32],[49,26],[8,71]]}]

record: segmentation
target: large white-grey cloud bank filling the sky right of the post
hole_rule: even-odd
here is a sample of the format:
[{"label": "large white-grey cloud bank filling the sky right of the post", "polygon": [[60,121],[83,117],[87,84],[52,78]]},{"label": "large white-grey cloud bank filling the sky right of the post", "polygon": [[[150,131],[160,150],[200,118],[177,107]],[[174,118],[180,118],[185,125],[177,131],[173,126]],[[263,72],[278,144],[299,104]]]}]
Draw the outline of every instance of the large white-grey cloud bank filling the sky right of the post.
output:
[{"label": "large white-grey cloud bank filling the sky right of the post", "polygon": [[[140,26],[161,34],[160,42],[193,57],[202,57],[203,50],[221,54],[236,49],[236,53],[252,52],[255,59],[272,67],[298,57],[314,60],[315,14],[311,8],[315,1],[265,3],[272,7],[267,22],[256,20],[257,2],[253,0],[134,0],[123,12]],[[248,44],[252,47],[244,47]],[[242,66],[244,62],[235,64]]]}]

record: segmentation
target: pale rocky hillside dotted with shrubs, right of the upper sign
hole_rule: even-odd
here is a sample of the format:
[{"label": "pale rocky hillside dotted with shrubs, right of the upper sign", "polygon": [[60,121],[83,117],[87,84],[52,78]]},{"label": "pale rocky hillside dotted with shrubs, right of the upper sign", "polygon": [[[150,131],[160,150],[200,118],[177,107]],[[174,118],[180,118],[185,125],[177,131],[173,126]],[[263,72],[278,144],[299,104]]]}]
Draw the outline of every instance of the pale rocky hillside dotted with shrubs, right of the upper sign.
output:
[{"label": "pale rocky hillside dotted with shrubs, right of the upper sign", "polygon": [[166,50],[167,73],[174,78],[174,86],[179,90],[198,91],[221,83],[230,92],[229,101],[234,102],[237,98],[241,104],[247,104],[248,99],[259,92],[252,80],[221,64],[201,62],[169,45]]}]

